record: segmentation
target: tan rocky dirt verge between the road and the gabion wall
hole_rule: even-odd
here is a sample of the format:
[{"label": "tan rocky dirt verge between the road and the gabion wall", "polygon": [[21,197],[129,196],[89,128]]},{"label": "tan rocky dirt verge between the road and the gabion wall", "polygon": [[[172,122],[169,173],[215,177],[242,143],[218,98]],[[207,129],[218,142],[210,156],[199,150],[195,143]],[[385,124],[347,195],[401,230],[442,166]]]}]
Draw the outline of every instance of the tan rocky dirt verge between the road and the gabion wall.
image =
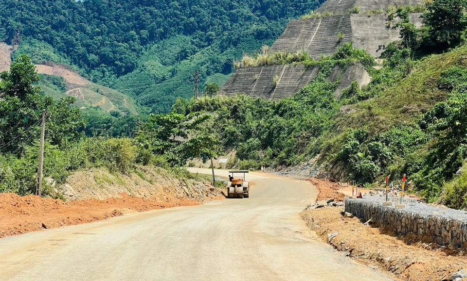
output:
[{"label": "tan rocky dirt verge between the road and the gabion wall", "polygon": [[310,209],[300,215],[323,241],[363,264],[393,273],[397,280],[446,280],[467,268],[465,253],[455,256],[432,244],[408,245],[356,217],[343,217],[338,207]]}]

